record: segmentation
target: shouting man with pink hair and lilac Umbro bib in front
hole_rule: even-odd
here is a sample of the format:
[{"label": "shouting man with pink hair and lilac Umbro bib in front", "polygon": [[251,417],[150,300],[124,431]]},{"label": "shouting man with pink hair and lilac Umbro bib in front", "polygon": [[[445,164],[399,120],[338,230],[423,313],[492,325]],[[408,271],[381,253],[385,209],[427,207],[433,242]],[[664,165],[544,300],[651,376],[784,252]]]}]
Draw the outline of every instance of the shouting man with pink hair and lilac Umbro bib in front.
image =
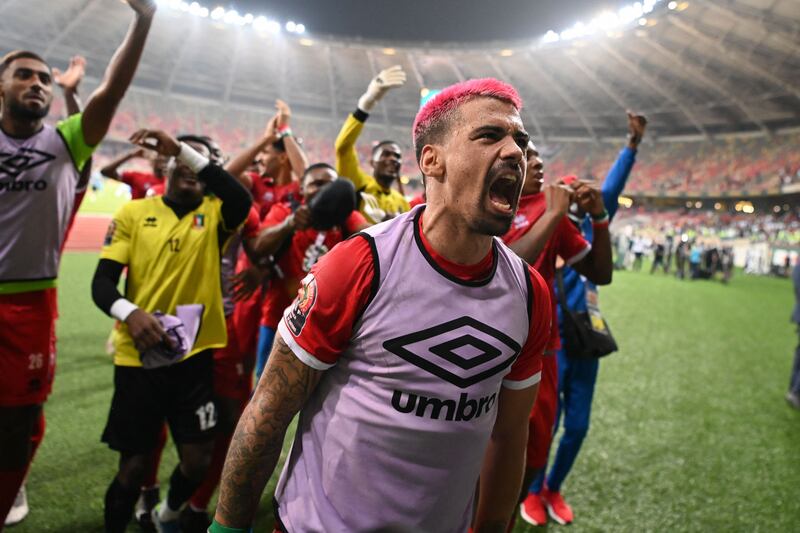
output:
[{"label": "shouting man with pink hair and lilac Umbro bib in front", "polygon": [[303,280],[210,531],[251,527],[298,412],[276,530],[505,531],[552,320],[547,285],[498,239],[525,178],[521,105],[485,79],[420,110],[427,204],[340,243]]}]

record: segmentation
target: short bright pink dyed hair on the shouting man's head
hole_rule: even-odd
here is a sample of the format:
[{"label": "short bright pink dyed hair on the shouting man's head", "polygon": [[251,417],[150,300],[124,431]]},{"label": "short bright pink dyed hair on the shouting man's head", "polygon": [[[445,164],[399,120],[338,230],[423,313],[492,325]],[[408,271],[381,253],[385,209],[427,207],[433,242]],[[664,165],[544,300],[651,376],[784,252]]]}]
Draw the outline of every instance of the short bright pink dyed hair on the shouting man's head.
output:
[{"label": "short bright pink dyed hair on the shouting man's head", "polygon": [[517,108],[522,109],[522,98],[517,90],[508,83],[494,78],[480,78],[462,81],[450,87],[428,100],[417,113],[414,119],[413,141],[417,143],[417,138],[428,129],[431,124],[438,122],[448,113],[458,108],[472,98],[485,96],[496,98],[508,102]]}]

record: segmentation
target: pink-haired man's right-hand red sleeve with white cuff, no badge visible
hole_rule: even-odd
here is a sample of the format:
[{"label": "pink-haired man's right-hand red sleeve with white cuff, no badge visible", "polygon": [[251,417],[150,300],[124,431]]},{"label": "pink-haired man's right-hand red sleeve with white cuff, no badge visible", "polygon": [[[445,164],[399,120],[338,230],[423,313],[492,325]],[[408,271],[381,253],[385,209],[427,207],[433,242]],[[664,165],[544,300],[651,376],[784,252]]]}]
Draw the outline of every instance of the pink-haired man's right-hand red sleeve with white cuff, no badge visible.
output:
[{"label": "pink-haired man's right-hand red sleeve with white cuff, no badge visible", "polygon": [[525,346],[503,378],[503,386],[509,389],[524,389],[539,383],[542,378],[542,356],[550,341],[553,307],[550,290],[533,267],[528,267],[531,279],[531,325]]}]

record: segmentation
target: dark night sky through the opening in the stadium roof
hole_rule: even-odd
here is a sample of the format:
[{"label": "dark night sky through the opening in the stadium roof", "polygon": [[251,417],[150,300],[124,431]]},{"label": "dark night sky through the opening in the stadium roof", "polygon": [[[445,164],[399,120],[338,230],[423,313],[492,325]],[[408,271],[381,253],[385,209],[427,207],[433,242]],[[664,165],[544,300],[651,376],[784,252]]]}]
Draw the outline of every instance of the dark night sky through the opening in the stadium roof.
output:
[{"label": "dark night sky through the opening in the stadium roof", "polygon": [[[240,14],[295,20],[309,33],[400,41],[530,39],[633,0],[227,0]],[[217,5],[201,2],[205,5]]]}]

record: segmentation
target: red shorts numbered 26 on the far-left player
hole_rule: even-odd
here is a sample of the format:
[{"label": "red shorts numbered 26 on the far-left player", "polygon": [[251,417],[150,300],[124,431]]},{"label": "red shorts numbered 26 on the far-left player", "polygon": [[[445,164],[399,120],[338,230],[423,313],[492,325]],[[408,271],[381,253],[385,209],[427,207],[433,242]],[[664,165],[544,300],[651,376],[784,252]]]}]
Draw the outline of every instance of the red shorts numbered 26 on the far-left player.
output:
[{"label": "red shorts numbered 26 on the far-left player", "polygon": [[0,295],[0,406],[42,404],[56,370],[56,290]]}]

